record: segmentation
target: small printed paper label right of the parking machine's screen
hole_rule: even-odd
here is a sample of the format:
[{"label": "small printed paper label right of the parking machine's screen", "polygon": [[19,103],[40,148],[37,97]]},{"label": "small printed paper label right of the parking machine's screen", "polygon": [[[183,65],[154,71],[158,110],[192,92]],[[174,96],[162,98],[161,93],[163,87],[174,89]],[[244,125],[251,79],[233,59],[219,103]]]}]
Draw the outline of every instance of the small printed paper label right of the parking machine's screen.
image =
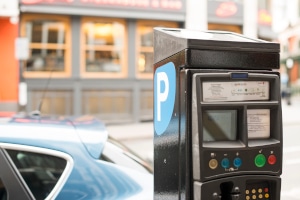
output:
[{"label": "small printed paper label right of the parking machine's screen", "polygon": [[270,110],[247,110],[248,138],[270,138]]}]

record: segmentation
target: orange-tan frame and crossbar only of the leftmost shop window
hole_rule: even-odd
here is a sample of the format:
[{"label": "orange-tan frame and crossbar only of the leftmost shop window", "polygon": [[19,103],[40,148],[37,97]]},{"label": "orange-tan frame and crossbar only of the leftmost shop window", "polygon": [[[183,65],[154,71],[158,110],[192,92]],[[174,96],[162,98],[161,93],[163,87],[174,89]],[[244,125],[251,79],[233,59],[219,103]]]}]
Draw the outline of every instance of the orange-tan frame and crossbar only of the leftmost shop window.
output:
[{"label": "orange-tan frame and crossbar only of the leftmost shop window", "polygon": [[56,15],[45,15],[45,14],[24,14],[21,19],[21,36],[26,37],[26,22],[35,19],[50,19],[58,20],[65,24],[65,44],[53,44],[53,43],[29,43],[29,49],[62,49],[64,50],[64,71],[26,71],[25,66],[23,67],[23,75],[25,78],[65,78],[71,76],[71,28],[70,18],[67,16],[56,16]]}]

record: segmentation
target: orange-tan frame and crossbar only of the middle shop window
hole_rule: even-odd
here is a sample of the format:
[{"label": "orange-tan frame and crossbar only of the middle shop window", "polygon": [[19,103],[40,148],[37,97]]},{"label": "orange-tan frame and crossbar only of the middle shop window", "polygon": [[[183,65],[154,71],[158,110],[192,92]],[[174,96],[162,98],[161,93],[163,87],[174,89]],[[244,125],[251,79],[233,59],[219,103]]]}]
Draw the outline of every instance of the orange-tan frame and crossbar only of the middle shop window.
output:
[{"label": "orange-tan frame and crossbar only of the middle shop window", "polygon": [[[116,72],[87,72],[86,71],[86,64],[85,64],[85,51],[88,49],[94,50],[103,50],[103,51],[110,51],[115,50],[116,47],[114,45],[103,45],[103,46],[94,46],[94,45],[87,45],[85,44],[85,37],[84,37],[84,24],[86,22],[118,22],[124,25],[124,40],[123,40],[123,47],[120,49],[122,54],[121,60],[121,71]],[[128,37],[127,37],[127,26],[126,21],[123,19],[117,18],[101,18],[101,17],[82,17],[81,24],[80,24],[80,74],[83,78],[107,78],[107,79],[116,79],[116,78],[126,78],[128,76]],[[123,49],[123,50],[122,50]]]}]

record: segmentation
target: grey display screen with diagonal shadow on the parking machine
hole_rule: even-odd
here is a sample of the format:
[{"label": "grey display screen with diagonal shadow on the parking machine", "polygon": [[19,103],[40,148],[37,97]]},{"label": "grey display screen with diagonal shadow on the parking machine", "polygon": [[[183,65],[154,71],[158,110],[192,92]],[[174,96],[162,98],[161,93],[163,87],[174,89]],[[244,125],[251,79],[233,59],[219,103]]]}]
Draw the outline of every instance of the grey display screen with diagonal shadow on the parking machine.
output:
[{"label": "grey display screen with diagonal shadow on the parking machine", "polygon": [[203,141],[235,141],[237,110],[205,110],[202,115]]}]

